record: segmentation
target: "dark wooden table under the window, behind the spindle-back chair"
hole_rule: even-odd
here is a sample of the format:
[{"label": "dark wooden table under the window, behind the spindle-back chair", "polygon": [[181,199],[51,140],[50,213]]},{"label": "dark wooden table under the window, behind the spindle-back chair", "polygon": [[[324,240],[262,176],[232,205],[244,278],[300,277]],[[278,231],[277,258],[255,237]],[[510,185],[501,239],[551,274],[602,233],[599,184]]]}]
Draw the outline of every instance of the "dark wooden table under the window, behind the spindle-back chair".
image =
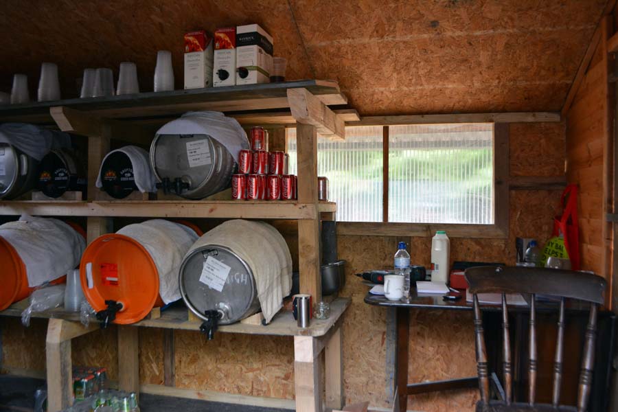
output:
[{"label": "dark wooden table under the window, behind the spindle-back chair", "polygon": [[[466,293],[462,291],[462,297],[458,301],[444,301],[442,294],[434,295],[419,295],[415,288],[410,291],[411,297],[409,301],[389,301],[381,295],[371,295],[367,293],[365,296],[365,303],[375,306],[384,306],[385,308],[392,308],[396,311],[396,358],[395,358],[395,388],[398,396],[399,410],[406,411],[407,400],[409,395],[417,393],[427,393],[433,391],[446,391],[450,389],[465,389],[478,387],[477,376],[470,376],[467,378],[456,378],[448,380],[437,380],[433,382],[422,383],[408,383],[408,365],[409,365],[409,330],[410,330],[410,316],[409,311],[411,309],[433,309],[433,310],[469,310],[472,311],[472,302],[466,301]],[[527,299],[527,297],[525,297]],[[499,312],[501,306],[488,306],[481,304],[483,312]],[[529,306],[510,306],[510,312],[523,314],[529,310]],[[547,312],[550,310],[557,310],[558,305],[553,303],[542,303],[537,301],[536,310],[538,312]],[[578,304],[577,302],[569,299],[569,305],[567,306],[567,312],[583,312],[588,313],[588,305]],[[595,393],[604,393],[605,387],[609,385],[611,371],[609,365],[611,365],[611,359],[613,356],[613,336],[615,329],[615,315],[612,312],[599,312],[599,323],[604,317],[608,318],[607,330],[599,328],[599,345],[597,345],[597,354],[595,354],[595,380],[600,383],[593,388],[593,405],[591,411],[604,411],[601,405],[595,404]],[[521,322],[516,323],[516,327]],[[470,321],[470,333],[473,332],[472,321]],[[603,342],[600,334],[603,336],[610,336]],[[501,343],[500,343],[501,345]],[[519,345],[516,345],[515,350],[519,350]],[[470,362],[474,362],[474,359],[470,359]],[[606,369],[606,370],[604,370]],[[599,378],[597,378],[599,374]],[[605,385],[605,382],[607,384]]]}]

